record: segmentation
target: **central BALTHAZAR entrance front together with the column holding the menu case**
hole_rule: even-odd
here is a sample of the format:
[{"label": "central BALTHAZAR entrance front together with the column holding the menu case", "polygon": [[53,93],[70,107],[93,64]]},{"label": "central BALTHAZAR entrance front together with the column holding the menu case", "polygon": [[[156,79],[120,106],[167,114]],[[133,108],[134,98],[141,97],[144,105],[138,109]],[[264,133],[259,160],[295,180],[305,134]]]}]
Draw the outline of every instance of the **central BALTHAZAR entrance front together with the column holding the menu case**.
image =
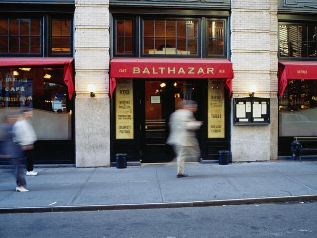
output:
[{"label": "central BALTHAZAR entrance front together with the column holding the menu case", "polygon": [[201,159],[277,159],[277,2],[249,3],[110,1],[112,161],[173,159],[168,119],[183,99],[198,102]]}]

